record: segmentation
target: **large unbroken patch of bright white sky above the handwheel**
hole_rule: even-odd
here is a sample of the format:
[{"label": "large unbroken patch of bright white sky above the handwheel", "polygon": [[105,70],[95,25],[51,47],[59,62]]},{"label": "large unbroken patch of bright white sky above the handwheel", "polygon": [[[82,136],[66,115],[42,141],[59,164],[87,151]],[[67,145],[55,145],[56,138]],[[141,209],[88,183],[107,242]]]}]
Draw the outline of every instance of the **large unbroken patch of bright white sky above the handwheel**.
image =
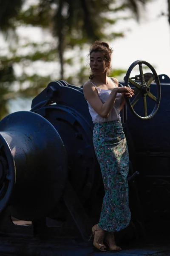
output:
[{"label": "large unbroken patch of bright white sky above the handwheel", "polygon": [[170,25],[167,17],[160,16],[161,12],[167,14],[167,0],[154,0],[147,4],[141,23],[126,23],[131,31],[110,44],[114,49],[113,68],[127,69],[134,61],[143,59],[155,67],[158,75],[170,76]]}]

